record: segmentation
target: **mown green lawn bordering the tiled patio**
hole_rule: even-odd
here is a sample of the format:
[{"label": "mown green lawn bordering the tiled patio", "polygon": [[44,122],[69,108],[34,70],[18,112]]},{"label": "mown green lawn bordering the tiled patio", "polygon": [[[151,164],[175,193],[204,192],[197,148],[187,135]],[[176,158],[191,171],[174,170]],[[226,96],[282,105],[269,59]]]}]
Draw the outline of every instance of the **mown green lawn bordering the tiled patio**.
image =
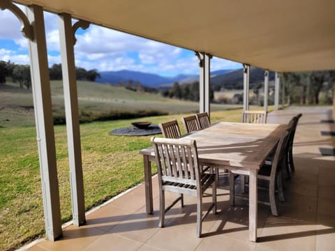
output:
[{"label": "mown green lawn bordering the tiled patio", "polygon": [[[212,112],[211,121],[239,121],[240,114],[241,110]],[[145,120],[160,123],[180,116],[184,114]],[[80,126],[86,209],[144,180],[142,156],[138,151],[150,146],[151,136],[128,137],[108,133],[129,126],[133,121],[140,119]],[[66,222],[71,218],[66,127],[55,126],[54,132],[61,217]],[[0,155],[0,250],[10,250],[44,234],[35,128],[0,128]]]}]

